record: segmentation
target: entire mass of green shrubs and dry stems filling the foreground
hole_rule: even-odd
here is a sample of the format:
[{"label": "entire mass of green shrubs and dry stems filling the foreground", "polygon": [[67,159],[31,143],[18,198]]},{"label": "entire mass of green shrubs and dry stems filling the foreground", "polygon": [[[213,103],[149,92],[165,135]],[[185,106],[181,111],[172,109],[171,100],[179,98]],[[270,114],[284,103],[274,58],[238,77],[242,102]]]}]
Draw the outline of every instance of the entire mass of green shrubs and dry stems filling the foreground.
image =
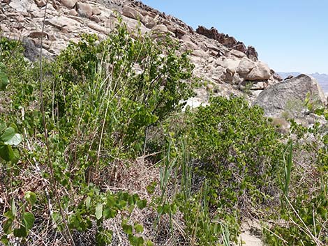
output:
[{"label": "entire mass of green shrubs and dry stems filling the foreground", "polygon": [[189,53],[133,37],[34,63],[1,38],[1,243],[242,245],[248,218],[267,245],[327,245],[327,129],[281,134],[233,96],[184,107]]}]

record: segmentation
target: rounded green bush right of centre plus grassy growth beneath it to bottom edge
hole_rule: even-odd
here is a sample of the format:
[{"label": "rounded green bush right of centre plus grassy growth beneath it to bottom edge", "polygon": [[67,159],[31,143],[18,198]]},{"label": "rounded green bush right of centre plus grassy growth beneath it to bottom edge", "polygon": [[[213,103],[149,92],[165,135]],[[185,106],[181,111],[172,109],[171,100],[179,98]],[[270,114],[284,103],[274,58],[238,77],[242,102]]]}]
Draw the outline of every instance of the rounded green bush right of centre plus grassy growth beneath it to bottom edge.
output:
[{"label": "rounded green bush right of centre plus grassy growth beneath it to bottom edge", "polygon": [[188,136],[191,174],[201,186],[188,199],[182,196],[181,209],[197,245],[218,244],[225,226],[237,240],[239,213],[273,199],[285,146],[270,121],[243,98],[211,98],[208,106],[188,112],[182,132]]}]

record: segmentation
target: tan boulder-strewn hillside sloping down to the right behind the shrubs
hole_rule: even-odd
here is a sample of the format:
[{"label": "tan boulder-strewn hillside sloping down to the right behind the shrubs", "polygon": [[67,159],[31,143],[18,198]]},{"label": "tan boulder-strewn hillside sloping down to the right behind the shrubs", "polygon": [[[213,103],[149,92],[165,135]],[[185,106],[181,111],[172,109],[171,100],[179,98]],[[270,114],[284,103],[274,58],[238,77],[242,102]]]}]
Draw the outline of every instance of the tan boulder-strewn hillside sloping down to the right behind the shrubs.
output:
[{"label": "tan boulder-strewn hillside sloping down to the right behind the shrubs", "polygon": [[194,75],[207,82],[207,88],[197,91],[196,101],[207,100],[209,91],[216,95],[241,95],[247,91],[252,99],[269,84],[281,80],[267,64],[258,61],[254,47],[246,47],[214,28],[200,26],[195,31],[176,17],[140,1],[52,0],[46,6],[45,0],[1,0],[0,29],[2,36],[23,40],[26,56],[33,60],[39,54],[42,36],[43,54],[56,56],[69,41],[77,42],[81,33],[105,38],[118,23],[119,15],[131,32],[139,26],[141,33],[153,38],[169,34],[179,40],[182,49],[192,51]]}]

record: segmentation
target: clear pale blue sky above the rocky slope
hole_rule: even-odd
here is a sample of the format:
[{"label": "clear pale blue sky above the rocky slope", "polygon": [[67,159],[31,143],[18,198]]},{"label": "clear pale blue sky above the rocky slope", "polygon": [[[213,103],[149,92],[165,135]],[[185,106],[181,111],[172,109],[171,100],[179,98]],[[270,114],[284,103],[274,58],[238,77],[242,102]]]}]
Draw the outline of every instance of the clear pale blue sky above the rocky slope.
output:
[{"label": "clear pale blue sky above the rocky slope", "polygon": [[328,74],[327,0],[142,0],[186,24],[216,27],[278,72]]}]

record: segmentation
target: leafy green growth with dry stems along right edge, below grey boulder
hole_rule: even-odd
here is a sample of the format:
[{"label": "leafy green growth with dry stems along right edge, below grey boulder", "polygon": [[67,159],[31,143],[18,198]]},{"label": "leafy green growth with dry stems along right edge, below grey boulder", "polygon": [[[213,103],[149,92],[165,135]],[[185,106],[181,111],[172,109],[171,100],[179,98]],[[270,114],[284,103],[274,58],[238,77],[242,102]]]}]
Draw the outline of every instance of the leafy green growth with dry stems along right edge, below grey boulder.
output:
[{"label": "leafy green growth with dry stems along right edge, below grey boulder", "polygon": [[297,135],[297,141],[286,152],[281,206],[272,217],[280,223],[264,231],[266,242],[268,245],[327,245],[328,133],[323,133],[319,124],[304,128],[294,121],[292,132]]}]

